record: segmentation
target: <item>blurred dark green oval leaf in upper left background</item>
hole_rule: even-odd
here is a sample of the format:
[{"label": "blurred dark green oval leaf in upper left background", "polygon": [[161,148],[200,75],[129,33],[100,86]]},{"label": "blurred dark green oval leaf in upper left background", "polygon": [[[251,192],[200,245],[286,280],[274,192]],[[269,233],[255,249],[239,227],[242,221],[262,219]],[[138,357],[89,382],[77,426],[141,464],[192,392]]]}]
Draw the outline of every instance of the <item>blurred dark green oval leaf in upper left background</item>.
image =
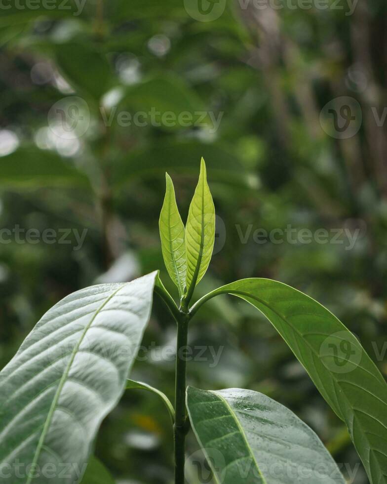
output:
[{"label": "blurred dark green oval leaf in upper left background", "polygon": [[91,43],[71,41],[55,47],[59,69],[80,93],[98,100],[109,89],[113,77],[110,64]]}]

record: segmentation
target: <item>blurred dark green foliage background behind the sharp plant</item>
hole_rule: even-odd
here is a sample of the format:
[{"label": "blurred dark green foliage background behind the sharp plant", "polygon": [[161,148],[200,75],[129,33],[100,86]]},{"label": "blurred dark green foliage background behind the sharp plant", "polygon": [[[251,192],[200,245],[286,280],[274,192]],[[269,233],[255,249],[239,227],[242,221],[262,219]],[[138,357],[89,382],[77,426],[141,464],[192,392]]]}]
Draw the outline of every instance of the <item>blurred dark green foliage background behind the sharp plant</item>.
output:
[{"label": "blurred dark green foliage background behind the sharp plant", "polygon": [[[4,0],[0,367],[78,288],[161,269],[176,296],[158,236],[164,172],[185,221],[203,156],[217,240],[195,298],[245,277],[291,284],[386,375],[386,14],[383,0]],[[174,337],[156,299],[132,377],[170,398]],[[343,424],[255,310],[213,300],[190,343],[191,384],[265,392],[354,472],[348,482],[367,483]],[[96,441],[119,484],[171,483],[171,449],[164,407],[139,391]],[[202,471],[189,483],[210,482]]]}]

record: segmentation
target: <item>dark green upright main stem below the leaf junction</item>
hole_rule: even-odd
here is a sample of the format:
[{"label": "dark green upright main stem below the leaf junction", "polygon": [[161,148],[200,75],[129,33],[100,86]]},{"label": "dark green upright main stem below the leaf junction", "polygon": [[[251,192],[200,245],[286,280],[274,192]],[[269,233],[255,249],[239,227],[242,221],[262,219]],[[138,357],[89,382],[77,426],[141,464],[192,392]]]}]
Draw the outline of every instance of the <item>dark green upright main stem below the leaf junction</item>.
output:
[{"label": "dark green upright main stem below the leaf junction", "polygon": [[189,316],[181,314],[177,323],[176,380],[175,380],[175,484],[184,484],[185,440],[187,434],[186,371]]}]

